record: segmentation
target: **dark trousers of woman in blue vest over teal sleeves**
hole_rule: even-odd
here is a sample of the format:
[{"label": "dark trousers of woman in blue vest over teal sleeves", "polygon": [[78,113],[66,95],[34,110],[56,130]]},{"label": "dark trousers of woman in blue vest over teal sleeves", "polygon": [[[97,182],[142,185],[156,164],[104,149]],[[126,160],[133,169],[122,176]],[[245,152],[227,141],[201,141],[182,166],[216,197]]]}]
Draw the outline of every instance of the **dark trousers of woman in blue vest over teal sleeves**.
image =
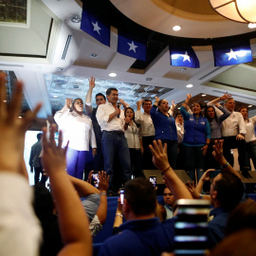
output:
[{"label": "dark trousers of woman in blue vest over teal sleeves", "polygon": [[190,147],[183,145],[183,161],[186,173],[195,181],[195,172],[197,181],[204,174],[204,155],[203,146]]}]

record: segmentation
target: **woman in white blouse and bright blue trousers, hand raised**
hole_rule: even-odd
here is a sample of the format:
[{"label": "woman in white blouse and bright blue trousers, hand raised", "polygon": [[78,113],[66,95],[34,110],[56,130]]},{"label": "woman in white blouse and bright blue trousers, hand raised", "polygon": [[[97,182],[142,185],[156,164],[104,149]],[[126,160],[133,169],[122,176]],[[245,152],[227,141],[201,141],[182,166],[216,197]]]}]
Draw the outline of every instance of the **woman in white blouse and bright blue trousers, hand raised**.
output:
[{"label": "woman in white blouse and bright blue trousers, hand raised", "polygon": [[71,176],[82,179],[86,152],[89,144],[96,155],[97,144],[92,120],[82,114],[81,99],[66,99],[64,108],[56,112],[54,119],[64,132],[64,145],[69,141],[66,152],[66,170]]}]

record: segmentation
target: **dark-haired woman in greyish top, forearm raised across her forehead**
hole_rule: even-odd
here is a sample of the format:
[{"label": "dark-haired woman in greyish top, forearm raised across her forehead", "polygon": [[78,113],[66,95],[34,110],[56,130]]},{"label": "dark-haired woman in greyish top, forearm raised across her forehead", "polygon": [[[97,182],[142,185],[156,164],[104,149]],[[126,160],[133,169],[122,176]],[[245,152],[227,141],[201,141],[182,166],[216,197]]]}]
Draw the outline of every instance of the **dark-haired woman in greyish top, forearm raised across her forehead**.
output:
[{"label": "dark-haired woman in greyish top, forearm raised across her forehead", "polygon": [[[224,101],[229,99],[231,95],[226,93],[222,97],[219,97],[213,101],[208,102],[206,110],[205,110],[205,117],[208,119],[210,123],[210,145],[205,155],[204,159],[204,170],[207,171],[208,169],[220,169],[220,164],[214,159],[211,155],[212,147],[214,145],[214,141],[217,139],[221,139],[221,125],[225,119],[228,119],[230,116],[229,110],[222,106],[219,101]],[[222,115],[217,116],[215,108],[218,108]]]}]

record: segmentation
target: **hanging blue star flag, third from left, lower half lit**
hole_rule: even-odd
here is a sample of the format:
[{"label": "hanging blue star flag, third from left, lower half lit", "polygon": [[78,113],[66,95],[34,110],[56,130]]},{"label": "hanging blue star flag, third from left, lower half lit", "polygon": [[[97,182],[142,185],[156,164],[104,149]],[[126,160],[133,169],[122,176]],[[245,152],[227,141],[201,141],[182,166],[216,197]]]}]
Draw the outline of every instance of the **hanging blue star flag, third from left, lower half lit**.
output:
[{"label": "hanging blue star flag, third from left, lower half lit", "polygon": [[192,46],[169,46],[171,65],[199,68],[199,61]]}]

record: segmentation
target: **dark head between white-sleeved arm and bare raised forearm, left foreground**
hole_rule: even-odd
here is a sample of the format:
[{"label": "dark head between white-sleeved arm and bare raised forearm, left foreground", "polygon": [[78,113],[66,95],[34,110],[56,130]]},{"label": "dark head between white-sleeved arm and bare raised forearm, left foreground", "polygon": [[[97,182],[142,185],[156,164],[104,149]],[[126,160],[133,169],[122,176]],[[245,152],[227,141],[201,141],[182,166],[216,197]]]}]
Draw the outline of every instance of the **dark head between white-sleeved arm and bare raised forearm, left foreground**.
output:
[{"label": "dark head between white-sleeved arm and bare raised forearm, left foreground", "polygon": [[54,203],[50,192],[41,183],[37,183],[34,188],[34,210],[38,218],[42,221],[53,214]]}]

